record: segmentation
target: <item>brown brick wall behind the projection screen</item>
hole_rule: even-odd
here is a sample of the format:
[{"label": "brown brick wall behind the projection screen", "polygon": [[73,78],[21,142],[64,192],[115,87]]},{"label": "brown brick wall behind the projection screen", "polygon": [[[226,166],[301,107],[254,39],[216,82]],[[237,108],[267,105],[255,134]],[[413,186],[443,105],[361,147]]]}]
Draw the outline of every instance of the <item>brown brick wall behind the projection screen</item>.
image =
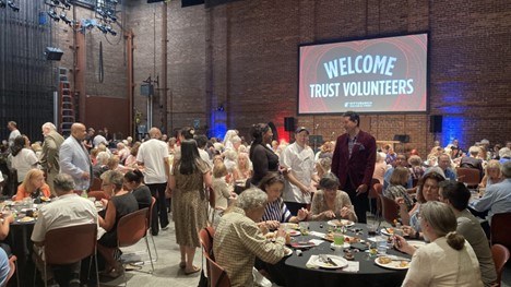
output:
[{"label": "brown brick wall behind the projection screen", "polygon": [[[130,5],[139,83],[161,71],[163,4]],[[429,112],[363,115],[363,127],[378,140],[408,134],[404,147],[421,155],[435,139],[447,145],[457,137],[464,147],[484,137],[511,140],[510,11],[511,2],[490,0],[246,0],[210,9],[181,9],[171,1],[170,127],[200,119],[204,129],[246,134],[252,123],[273,121],[286,134],[284,117],[297,113],[299,44],[429,31]],[[144,105],[138,96],[135,106],[144,110]],[[218,105],[224,112],[216,111]],[[443,116],[442,133],[429,132],[430,115]],[[319,124],[314,133],[324,139],[342,133],[338,116],[297,117],[297,124]]]}]

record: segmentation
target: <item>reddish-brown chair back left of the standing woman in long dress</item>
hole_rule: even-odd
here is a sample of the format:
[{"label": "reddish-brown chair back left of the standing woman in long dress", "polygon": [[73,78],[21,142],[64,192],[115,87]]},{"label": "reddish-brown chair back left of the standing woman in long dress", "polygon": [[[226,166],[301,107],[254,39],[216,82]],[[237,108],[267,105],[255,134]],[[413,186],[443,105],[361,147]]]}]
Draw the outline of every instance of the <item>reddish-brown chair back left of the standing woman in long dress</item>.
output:
[{"label": "reddish-brown chair back left of the standing woman in long dress", "polygon": [[122,216],[117,224],[118,247],[135,244],[147,232],[148,207]]}]

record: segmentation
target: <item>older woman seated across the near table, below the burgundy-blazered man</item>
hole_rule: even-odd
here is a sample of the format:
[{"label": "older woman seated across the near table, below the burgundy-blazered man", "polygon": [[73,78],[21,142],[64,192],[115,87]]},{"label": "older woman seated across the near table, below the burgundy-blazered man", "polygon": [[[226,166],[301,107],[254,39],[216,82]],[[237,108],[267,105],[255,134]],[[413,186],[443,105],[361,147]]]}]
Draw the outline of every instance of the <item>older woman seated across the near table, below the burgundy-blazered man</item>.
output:
[{"label": "older woman seated across the near table, below the burgundy-blazered man", "polygon": [[312,198],[309,220],[329,220],[341,217],[357,222],[349,195],[338,190],[338,179],[334,174],[324,175],[319,187],[320,190]]}]

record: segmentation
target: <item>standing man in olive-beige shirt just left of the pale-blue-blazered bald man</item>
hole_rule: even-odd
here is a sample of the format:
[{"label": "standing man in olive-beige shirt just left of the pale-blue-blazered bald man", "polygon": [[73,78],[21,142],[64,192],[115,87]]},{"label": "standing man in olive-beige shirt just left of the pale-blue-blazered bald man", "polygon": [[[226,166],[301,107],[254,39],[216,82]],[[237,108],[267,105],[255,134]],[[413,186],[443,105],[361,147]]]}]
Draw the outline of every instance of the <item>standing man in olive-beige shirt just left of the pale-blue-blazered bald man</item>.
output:
[{"label": "standing man in olive-beige shirt just left of the pale-blue-blazered bald man", "polygon": [[46,174],[46,182],[50,187],[51,194],[57,195],[54,189],[54,179],[59,174],[59,150],[63,143],[63,137],[57,132],[55,124],[47,122],[43,124],[43,152],[40,154],[39,163]]}]

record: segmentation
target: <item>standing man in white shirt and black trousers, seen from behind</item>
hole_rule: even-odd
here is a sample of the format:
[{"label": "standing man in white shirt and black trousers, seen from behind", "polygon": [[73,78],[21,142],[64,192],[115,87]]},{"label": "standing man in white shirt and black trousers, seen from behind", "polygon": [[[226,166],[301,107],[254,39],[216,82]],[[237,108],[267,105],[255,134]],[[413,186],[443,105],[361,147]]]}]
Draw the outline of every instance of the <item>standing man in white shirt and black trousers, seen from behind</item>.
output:
[{"label": "standing man in white shirt and black trousers, seen from behind", "polygon": [[[144,174],[144,182],[151,190],[151,195],[156,198],[156,207],[153,208],[153,220],[151,223],[151,231],[153,236],[157,236],[159,226],[162,229],[168,228],[167,206],[165,203],[165,191],[167,189],[167,179],[169,175],[168,166],[168,148],[165,142],[161,141],[162,132],[158,128],[152,128],[148,132],[151,140],[143,142],[140,145],[136,163]],[[157,211],[157,216],[156,215]]]}]

